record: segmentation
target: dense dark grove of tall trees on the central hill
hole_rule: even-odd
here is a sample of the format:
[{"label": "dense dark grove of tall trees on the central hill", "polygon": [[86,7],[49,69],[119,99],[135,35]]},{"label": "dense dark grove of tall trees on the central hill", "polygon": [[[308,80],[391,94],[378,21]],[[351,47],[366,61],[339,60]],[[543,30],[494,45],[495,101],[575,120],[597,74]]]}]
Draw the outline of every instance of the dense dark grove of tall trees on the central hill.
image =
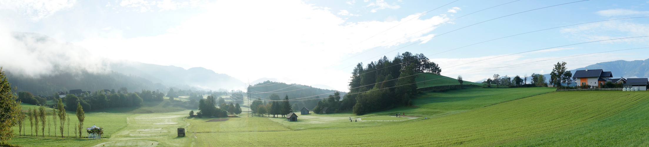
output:
[{"label": "dense dark grove of tall trees on the central hill", "polygon": [[356,115],[411,106],[411,99],[419,93],[417,84],[414,84],[417,78],[415,74],[424,72],[439,74],[441,68],[437,63],[430,62],[424,54],[410,52],[398,54],[393,60],[383,56],[365,67],[363,63],[358,63],[349,82],[349,93],[358,94],[345,95],[340,102],[336,100],[336,95],[332,95],[333,100],[327,99],[322,103],[323,106],[330,106],[326,113],[351,110]]}]

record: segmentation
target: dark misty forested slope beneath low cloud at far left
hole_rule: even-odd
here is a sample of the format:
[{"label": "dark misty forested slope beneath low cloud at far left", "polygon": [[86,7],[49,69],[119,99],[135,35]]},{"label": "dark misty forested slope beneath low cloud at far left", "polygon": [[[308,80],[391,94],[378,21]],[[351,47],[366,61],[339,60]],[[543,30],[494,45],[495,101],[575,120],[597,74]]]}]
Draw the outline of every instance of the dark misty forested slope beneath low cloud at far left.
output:
[{"label": "dark misty forested slope beneath low cloud at far left", "polygon": [[141,89],[166,91],[167,89],[165,85],[160,83],[153,83],[138,76],[127,76],[116,72],[61,72],[43,75],[38,78],[13,74],[10,71],[7,71],[6,74],[8,81],[12,86],[18,87],[18,91],[29,91],[34,95],[52,95],[56,91],[69,91],[71,89],[82,89],[83,91],[117,90],[120,87],[127,87],[131,91],[140,91]]}]

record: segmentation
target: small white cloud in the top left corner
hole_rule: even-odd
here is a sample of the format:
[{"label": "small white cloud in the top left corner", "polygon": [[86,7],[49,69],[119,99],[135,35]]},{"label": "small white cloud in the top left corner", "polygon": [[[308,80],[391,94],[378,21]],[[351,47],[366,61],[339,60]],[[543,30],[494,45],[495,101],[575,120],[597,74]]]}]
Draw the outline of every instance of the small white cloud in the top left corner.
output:
[{"label": "small white cloud in the top left corner", "polygon": [[75,0],[0,0],[0,10],[11,10],[31,21],[39,21],[58,11],[71,8]]}]

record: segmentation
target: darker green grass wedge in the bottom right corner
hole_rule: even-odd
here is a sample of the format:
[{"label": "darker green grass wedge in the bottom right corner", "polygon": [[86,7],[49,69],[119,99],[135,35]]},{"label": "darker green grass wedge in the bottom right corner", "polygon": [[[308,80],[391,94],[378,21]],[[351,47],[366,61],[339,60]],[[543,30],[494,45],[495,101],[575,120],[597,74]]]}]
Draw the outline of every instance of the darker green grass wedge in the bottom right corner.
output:
[{"label": "darker green grass wedge in the bottom right corner", "polygon": [[[647,93],[618,93],[620,95]],[[646,95],[636,95],[637,98]],[[606,119],[544,133],[501,146],[649,146],[649,101],[644,100]]]}]

